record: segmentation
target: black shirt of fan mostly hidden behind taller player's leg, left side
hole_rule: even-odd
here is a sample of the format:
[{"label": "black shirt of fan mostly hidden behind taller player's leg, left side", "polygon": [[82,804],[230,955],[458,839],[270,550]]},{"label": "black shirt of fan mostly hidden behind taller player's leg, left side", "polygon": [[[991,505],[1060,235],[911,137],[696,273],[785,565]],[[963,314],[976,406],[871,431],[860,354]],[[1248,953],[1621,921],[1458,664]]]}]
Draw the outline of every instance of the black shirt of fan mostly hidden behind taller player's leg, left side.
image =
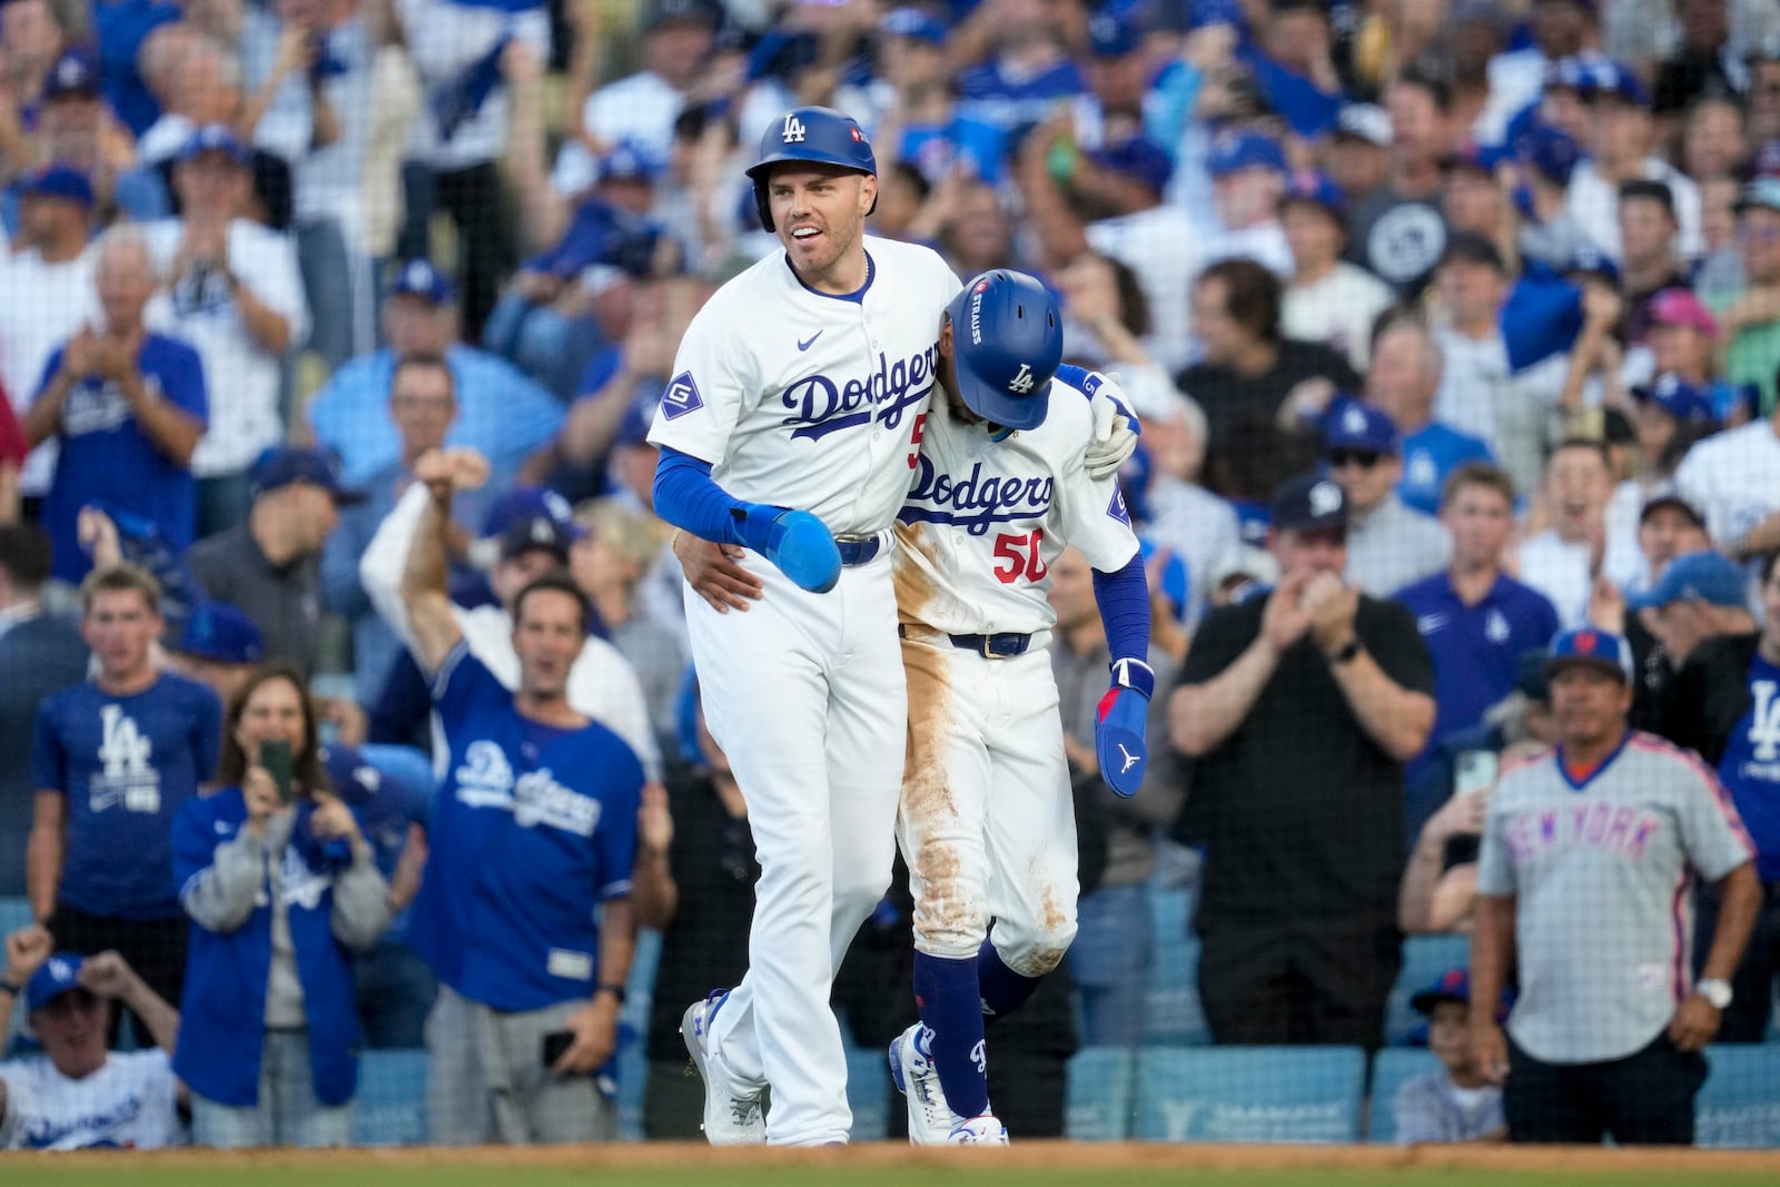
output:
[{"label": "black shirt of fan mostly hidden behind taller player's leg, left side", "polygon": [[680,906],[662,933],[650,1059],[685,1059],[680,1014],[712,989],[740,984],[748,972],[748,927],[755,918],[755,840],[746,817],[732,817],[710,776],[682,769],[668,779],[673,844],[668,868]]}]

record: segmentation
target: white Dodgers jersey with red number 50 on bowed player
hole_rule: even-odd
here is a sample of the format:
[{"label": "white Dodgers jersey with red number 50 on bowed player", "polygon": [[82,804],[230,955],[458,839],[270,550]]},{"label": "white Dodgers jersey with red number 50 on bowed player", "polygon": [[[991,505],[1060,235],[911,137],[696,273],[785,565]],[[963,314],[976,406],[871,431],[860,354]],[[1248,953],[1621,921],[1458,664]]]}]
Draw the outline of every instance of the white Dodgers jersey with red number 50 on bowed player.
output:
[{"label": "white Dodgers jersey with red number 50 on bowed player", "polygon": [[1125,568],[1137,537],[1118,482],[1088,477],[1091,440],[1088,397],[1061,379],[1045,424],[1006,441],[961,422],[942,393],[897,513],[902,621],[954,635],[1034,634],[1057,621],[1045,594],[1068,545],[1104,573]]}]

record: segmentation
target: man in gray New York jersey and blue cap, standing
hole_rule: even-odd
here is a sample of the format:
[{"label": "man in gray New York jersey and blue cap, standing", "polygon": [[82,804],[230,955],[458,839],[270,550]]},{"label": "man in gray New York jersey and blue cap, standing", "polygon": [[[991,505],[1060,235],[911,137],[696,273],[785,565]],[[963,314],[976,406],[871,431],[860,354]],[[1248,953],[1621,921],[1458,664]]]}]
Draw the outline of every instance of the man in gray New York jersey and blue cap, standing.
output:
[{"label": "man in gray New York jersey and blue cap, standing", "polygon": [[[1623,639],[1565,632],[1547,674],[1559,742],[1502,774],[1477,863],[1477,1062],[1506,1078],[1511,1141],[1693,1144],[1700,1048],[1760,902],[1755,851],[1691,751],[1627,728]],[[1698,984],[1695,874],[1723,897]],[[1520,995],[1504,1036],[1492,1004],[1509,968]]]}]

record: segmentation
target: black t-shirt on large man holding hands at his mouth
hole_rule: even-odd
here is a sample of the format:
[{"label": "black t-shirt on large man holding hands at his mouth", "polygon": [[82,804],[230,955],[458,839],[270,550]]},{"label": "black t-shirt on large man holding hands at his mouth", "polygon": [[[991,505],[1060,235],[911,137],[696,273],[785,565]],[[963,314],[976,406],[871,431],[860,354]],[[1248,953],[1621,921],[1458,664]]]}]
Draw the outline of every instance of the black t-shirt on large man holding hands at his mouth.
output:
[{"label": "black t-shirt on large man holding hands at his mouth", "polygon": [[[1182,685],[1212,680],[1260,634],[1266,598],[1200,625]],[[1399,687],[1433,696],[1415,616],[1360,598],[1355,630]],[[1403,876],[1403,763],[1360,728],[1328,660],[1301,639],[1248,717],[1193,765],[1177,826],[1205,845],[1200,931],[1394,913]]]}]

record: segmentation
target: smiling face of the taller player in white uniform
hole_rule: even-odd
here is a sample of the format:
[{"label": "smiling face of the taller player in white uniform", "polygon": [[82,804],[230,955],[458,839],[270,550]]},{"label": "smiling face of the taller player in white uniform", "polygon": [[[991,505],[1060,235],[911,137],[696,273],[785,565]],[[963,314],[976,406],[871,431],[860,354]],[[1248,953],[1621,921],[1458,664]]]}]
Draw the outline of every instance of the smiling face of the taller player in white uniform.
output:
[{"label": "smiling face of the taller player in white uniform", "polygon": [[846,294],[865,281],[865,212],[878,178],[842,166],[785,164],[767,176],[773,226],[790,265],[819,292]]}]

